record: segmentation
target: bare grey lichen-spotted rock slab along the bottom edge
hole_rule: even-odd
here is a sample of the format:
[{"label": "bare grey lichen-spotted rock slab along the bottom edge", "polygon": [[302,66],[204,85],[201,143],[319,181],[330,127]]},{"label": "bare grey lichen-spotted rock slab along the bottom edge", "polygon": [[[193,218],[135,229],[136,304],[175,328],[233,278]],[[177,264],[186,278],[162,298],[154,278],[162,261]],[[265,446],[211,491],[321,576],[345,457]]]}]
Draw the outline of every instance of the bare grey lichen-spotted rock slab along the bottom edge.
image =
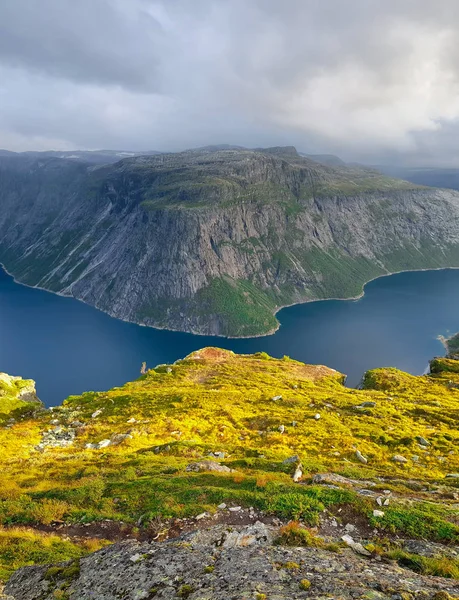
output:
[{"label": "bare grey lichen-spotted rock slab along the bottom edge", "polygon": [[[315,548],[273,545],[277,531],[262,523],[201,530],[163,543],[125,542],[81,559],[79,568],[25,567],[8,582],[14,600],[228,600],[256,598],[409,598],[459,593],[453,580],[424,577],[392,563]],[[295,565],[292,567],[292,565]],[[73,565],[75,567],[75,565]],[[77,565],[78,567],[78,565]],[[310,582],[308,591],[301,581]]]}]

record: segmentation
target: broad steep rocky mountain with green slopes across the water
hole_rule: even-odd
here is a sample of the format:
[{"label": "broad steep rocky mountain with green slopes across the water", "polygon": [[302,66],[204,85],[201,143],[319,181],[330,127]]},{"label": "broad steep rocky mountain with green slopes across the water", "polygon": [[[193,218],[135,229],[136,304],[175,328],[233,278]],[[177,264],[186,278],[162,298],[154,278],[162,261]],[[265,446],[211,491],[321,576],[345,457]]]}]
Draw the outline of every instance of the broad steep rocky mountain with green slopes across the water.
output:
[{"label": "broad steep rocky mountain with green slopes across the water", "polygon": [[0,262],[15,278],[160,328],[274,331],[282,306],[459,266],[459,193],[295,148],[77,160],[0,157]]}]

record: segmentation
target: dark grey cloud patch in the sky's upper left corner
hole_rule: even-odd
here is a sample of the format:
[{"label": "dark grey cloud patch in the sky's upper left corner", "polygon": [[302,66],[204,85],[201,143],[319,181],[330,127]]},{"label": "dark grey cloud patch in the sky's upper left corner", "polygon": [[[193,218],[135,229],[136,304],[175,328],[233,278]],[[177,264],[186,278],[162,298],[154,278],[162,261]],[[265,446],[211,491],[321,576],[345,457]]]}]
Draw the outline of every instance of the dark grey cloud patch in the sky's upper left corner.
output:
[{"label": "dark grey cloud patch in the sky's upper left corner", "polygon": [[155,89],[161,36],[135,0],[0,3],[0,60],[63,79]]}]

